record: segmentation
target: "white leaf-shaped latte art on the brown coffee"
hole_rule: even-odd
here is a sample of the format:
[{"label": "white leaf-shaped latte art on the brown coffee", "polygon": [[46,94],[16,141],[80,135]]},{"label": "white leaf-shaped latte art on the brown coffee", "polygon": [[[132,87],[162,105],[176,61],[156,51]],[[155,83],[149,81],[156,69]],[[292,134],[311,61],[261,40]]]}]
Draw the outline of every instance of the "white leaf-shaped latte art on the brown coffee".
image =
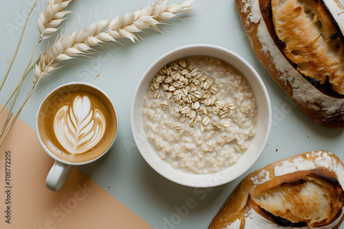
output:
[{"label": "white leaf-shaped latte art on the brown coffee", "polygon": [[78,95],[72,106],[56,112],[54,132],[58,142],[69,154],[83,154],[96,146],[105,133],[105,117],[98,109],[92,110],[87,96]]}]

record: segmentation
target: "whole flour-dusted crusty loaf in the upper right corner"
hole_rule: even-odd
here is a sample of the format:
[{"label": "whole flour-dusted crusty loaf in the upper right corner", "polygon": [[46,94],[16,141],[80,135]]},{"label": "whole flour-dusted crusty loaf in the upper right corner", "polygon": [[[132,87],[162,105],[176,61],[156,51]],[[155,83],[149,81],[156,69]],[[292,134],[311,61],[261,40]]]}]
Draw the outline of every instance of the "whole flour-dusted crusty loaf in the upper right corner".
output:
[{"label": "whole flour-dusted crusty loaf in the upper right corner", "polygon": [[344,8],[337,0],[235,0],[257,58],[311,119],[344,127]]}]

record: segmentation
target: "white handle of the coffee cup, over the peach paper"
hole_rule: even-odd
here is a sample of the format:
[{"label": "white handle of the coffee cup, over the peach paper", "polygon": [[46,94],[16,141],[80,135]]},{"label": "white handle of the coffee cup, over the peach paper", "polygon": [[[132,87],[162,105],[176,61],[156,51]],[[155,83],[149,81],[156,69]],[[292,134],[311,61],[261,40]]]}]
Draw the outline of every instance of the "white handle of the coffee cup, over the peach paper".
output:
[{"label": "white handle of the coffee cup, over the peach paper", "polygon": [[51,191],[60,190],[73,167],[73,165],[66,165],[55,160],[54,165],[52,165],[52,168],[47,174],[45,186]]}]

